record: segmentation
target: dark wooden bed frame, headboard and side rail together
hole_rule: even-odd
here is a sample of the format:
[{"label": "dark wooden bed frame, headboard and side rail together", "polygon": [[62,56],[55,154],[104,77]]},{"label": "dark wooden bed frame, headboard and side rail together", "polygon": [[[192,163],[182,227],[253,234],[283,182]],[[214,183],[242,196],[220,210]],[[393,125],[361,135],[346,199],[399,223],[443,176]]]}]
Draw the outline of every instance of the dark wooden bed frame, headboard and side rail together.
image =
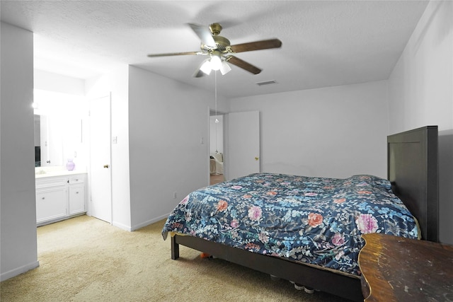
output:
[{"label": "dark wooden bed frame, headboard and side rail together", "polygon": [[[437,241],[437,126],[387,137],[388,177],[392,190],[418,219],[422,238]],[[320,291],[363,301],[360,277],[285,258],[260,255],[193,236],[171,237],[171,259],[179,245]]]}]

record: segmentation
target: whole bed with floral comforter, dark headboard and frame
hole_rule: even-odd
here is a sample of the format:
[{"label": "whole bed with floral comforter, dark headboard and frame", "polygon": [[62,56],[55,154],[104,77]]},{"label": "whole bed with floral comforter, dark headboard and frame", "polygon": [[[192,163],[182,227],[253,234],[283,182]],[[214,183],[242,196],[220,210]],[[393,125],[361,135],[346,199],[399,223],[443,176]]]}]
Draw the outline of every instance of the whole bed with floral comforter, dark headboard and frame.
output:
[{"label": "whole bed with floral comforter, dark headboard and frame", "polygon": [[388,180],[259,173],[196,190],[163,228],[171,258],[185,245],[363,301],[362,233],[437,241],[437,127],[391,135],[387,151]]}]

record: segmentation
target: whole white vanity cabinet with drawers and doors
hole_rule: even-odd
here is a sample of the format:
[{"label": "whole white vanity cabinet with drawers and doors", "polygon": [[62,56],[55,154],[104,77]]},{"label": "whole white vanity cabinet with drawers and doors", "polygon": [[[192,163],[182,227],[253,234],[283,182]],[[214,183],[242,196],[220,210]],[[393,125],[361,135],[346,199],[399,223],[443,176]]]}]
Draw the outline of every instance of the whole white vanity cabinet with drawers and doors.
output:
[{"label": "whole white vanity cabinet with drawers and doors", "polygon": [[36,178],[36,223],[68,219],[86,212],[86,173]]}]

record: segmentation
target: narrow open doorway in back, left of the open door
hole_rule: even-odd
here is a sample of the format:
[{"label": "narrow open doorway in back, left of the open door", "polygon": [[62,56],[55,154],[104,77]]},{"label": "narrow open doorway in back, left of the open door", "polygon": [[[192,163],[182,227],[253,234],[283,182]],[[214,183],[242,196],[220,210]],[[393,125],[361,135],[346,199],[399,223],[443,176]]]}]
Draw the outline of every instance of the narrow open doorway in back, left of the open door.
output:
[{"label": "narrow open doorway in back, left of the open door", "polygon": [[210,111],[210,185],[224,178],[224,115]]}]

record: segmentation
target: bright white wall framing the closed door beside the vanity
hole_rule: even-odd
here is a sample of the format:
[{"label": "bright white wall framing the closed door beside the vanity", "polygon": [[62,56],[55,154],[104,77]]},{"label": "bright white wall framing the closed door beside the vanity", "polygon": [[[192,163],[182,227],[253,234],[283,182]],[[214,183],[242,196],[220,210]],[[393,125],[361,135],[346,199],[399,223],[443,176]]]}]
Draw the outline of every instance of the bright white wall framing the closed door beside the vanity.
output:
[{"label": "bright white wall framing the closed door beside the vanity", "polygon": [[130,204],[129,164],[129,67],[123,65],[108,74],[86,80],[86,96],[89,100],[111,93],[112,137],[112,212],[114,226],[132,231]]}]

